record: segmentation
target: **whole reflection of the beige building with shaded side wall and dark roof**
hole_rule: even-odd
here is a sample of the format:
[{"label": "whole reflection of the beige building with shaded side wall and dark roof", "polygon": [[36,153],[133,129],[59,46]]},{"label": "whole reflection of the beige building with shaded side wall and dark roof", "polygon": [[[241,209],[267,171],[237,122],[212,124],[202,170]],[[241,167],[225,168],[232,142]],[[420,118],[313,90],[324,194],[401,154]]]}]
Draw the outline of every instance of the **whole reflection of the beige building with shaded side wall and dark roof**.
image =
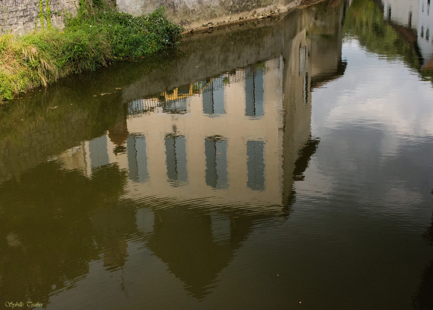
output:
[{"label": "whole reflection of the beige building with shaded side wall and dark roof", "polygon": [[[256,46],[282,44],[277,56],[252,51],[253,61],[233,70],[131,96],[105,134],[57,157],[63,169],[98,182],[82,206],[91,210],[85,238],[100,249],[104,268],[126,265],[126,236],[136,234],[201,299],[256,223],[288,215],[294,182],[318,144],[310,131],[311,88],[344,72],[343,10],[335,5],[323,15],[311,8],[283,19],[275,45]],[[104,173],[116,177],[117,191]],[[101,193],[97,208],[86,204],[93,192]]]}]

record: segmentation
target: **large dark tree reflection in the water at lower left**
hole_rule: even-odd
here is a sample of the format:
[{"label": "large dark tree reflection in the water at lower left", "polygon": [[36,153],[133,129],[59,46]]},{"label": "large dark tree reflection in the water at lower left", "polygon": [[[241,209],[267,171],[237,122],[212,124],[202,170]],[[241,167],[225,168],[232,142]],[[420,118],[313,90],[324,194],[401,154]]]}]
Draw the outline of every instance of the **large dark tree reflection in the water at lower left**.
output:
[{"label": "large dark tree reflection in the water at lower left", "polygon": [[123,264],[119,240],[136,231],[133,211],[118,205],[126,176],[115,164],[89,179],[78,169],[66,172],[48,162],[22,173],[20,182],[3,182],[2,299],[47,304],[52,291],[74,287],[101,252],[106,265]]}]

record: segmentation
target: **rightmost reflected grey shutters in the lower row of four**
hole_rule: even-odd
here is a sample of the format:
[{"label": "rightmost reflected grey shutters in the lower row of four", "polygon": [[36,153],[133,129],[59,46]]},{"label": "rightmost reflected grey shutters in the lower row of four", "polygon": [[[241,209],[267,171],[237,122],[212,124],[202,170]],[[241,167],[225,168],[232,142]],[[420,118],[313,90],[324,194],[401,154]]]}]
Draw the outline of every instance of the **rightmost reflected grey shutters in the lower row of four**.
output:
[{"label": "rightmost reflected grey shutters in the lower row of four", "polygon": [[248,141],[246,143],[246,155],[248,157],[248,182],[247,186],[253,191],[265,189],[265,163],[263,159],[263,141]]}]

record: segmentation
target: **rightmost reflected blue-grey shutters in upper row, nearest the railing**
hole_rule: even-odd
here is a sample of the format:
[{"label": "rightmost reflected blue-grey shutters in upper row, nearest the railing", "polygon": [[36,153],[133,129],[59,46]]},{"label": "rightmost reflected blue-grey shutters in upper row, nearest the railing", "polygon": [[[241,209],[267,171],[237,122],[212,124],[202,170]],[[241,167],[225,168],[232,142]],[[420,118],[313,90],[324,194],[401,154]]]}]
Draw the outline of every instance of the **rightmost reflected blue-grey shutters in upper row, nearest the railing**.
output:
[{"label": "rightmost reflected blue-grey shutters in upper row, nearest the railing", "polygon": [[263,116],[263,68],[250,67],[245,71],[245,115]]}]

